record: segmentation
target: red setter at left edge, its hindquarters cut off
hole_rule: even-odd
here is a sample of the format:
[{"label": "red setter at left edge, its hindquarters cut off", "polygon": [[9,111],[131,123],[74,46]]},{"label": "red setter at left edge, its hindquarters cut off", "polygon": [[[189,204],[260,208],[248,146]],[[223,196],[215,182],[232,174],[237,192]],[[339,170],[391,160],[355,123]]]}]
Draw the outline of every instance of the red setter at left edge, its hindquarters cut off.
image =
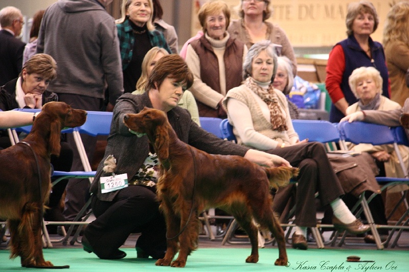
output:
[{"label": "red setter at left edge, its hindquarters cut off", "polygon": [[23,267],[53,266],[44,260],[41,241],[41,214],[51,189],[50,156],[60,154],[61,128],[85,120],[85,110],[49,102],[24,140],[0,151],[0,218],[8,219],[10,258],[20,256]]}]

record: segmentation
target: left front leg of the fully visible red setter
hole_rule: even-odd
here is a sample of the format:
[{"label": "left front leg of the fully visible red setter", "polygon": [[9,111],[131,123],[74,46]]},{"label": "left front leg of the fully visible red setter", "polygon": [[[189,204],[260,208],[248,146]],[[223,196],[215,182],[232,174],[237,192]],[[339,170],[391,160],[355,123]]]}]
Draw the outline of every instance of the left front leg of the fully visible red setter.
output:
[{"label": "left front leg of the fully visible red setter", "polygon": [[165,214],[166,220],[166,237],[167,237],[167,248],[166,254],[163,259],[158,259],[155,265],[169,266],[177,253],[177,243],[180,229],[180,218],[173,212],[172,204],[169,200],[164,200],[162,202],[162,208]]}]

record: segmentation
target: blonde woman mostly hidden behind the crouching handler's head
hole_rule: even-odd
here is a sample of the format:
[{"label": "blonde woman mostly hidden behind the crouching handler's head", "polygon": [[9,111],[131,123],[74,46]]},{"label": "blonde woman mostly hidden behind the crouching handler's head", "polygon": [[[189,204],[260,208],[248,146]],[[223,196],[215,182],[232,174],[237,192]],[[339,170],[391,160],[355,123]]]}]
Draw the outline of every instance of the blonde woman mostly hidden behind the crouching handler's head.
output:
[{"label": "blonde woman mostly hidden behind the crouching handler's head", "polygon": [[[153,70],[153,67],[158,60],[166,55],[169,55],[169,53],[165,49],[159,47],[154,47],[149,50],[148,53],[146,53],[145,58],[142,61],[142,74],[137,82],[137,89],[134,90],[132,94],[139,95],[145,93],[148,78]],[[197,109],[196,100],[189,90],[185,90],[177,105],[181,108],[187,109],[190,112],[192,120],[200,126],[199,111]]]}]

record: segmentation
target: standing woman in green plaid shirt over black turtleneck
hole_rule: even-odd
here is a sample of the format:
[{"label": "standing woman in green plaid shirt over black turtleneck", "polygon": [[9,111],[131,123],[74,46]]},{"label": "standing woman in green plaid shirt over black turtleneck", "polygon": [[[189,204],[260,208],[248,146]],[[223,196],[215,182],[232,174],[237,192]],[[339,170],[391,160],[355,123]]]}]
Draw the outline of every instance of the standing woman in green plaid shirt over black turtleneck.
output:
[{"label": "standing woman in green plaid shirt over black turtleneck", "polygon": [[136,89],[142,73],[142,61],[153,47],[164,48],[170,53],[162,32],[152,25],[152,0],[123,0],[122,18],[117,21],[121,50],[124,92]]}]

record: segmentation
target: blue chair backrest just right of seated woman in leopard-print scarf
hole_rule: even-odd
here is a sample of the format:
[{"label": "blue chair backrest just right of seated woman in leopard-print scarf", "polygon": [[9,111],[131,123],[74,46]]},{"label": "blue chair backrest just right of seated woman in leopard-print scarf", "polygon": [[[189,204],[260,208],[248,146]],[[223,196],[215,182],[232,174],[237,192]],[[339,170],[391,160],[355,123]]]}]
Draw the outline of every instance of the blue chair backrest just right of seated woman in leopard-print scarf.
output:
[{"label": "blue chair backrest just right of seated woman in leopard-print scarf", "polygon": [[338,142],[339,132],[334,124],[325,120],[292,120],[292,126],[299,135],[300,141],[309,142]]}]

